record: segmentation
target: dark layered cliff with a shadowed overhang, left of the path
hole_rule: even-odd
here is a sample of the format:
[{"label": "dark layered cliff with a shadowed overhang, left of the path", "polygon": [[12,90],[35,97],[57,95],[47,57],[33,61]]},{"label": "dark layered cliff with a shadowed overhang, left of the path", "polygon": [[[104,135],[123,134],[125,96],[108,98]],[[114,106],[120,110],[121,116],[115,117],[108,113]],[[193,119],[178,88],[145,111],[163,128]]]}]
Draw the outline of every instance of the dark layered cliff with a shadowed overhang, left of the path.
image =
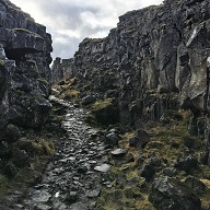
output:
[{"label": "dark layered cliff with a shadowed overhang, left of the path", "polygon": [[51,37],[46,27],[0,0],[0,140],[18,127],[40,127],[50,104]]}]

